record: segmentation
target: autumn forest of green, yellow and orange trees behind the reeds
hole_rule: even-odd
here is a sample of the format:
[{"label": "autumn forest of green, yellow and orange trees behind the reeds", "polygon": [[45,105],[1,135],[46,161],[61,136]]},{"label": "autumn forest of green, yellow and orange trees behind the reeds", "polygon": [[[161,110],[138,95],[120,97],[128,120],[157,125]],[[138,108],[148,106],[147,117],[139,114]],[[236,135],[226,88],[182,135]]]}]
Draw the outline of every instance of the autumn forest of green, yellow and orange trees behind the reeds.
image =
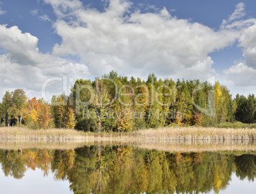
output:
[{"label": "autumn forest of green, yellow and orange trees behind the reeds", "polygon": [[256,127],[256,98],[232,97],[218,81],[119,76],[110,71],[95,80],[76,80],[70,94],[28,99],[23,89],[6,91],[1,126],[75,128],[89,132],[127,132],[141,128],[203,126]]}]

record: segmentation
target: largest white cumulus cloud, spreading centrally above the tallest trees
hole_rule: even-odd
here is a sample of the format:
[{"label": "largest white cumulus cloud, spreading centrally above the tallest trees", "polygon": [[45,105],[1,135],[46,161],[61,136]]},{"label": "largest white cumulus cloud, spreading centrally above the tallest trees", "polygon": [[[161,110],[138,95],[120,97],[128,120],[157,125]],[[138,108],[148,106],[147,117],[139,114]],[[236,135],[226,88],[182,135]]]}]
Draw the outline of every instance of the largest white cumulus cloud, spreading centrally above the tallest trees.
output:
[{"label": "largest white cumulus cloud, spreading centrally above the tallest trees", "polygon": [[[45,2],[59,17],[53,27],[62,43],[54,46],[53,55],[79,55],[94,76],[115,69],[127,76],[154,72],[162,77],[205,79],[214,72],[208,54],[233,45],[241,35],[233,29],[240,23],[229,22],[234,26],[215,31],[172,17],[166,8],[153,13],[132,11],[130,1],[109,1],[102,12],[83,7],[80,1]],[[229,21],[241,18],[243,9],[238,4]],[[67,19],[71,15],[72,22]]]}]

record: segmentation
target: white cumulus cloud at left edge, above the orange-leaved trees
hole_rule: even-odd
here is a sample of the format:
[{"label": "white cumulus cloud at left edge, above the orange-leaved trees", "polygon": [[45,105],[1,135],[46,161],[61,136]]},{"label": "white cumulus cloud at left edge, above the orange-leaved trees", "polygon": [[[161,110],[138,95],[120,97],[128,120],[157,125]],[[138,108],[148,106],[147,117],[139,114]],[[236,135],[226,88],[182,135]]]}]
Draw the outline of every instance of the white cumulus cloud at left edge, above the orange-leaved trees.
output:
[{"label": "white cumulus cloud at left edge, above the orange-leaved trees", "polygon": [[[4,49],[4,54],[0,55],[1,96],[4,88],[24,88],[34,91],[31,95],[40,97],[41,86],[48,78],[67,76],[76,79],[89,74],[83,64],[40,53],[38,38],[22,33],[17,26],[7,28],[0,25],[0,34],[0,48]],[[46,92],[55,94],[62,91],[61,83],[53,85],[49,85]]]}]

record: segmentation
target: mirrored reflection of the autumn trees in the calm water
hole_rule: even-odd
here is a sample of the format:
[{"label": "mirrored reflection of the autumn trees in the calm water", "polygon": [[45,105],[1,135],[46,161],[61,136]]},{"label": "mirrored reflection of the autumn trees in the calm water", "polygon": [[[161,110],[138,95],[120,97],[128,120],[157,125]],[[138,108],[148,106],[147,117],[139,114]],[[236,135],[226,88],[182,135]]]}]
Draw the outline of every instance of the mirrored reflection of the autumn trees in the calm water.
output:
[{"label": "mirrored reflection of the autumn trees in the calm water", "polygon": [[5,176],[21,179],[27,169],[50,170],[68,179],[73,193],[199,193],[224,190],[232,172],[254,181],[255,155],[167,153],[129,146],[71,150],[0,150]]}]

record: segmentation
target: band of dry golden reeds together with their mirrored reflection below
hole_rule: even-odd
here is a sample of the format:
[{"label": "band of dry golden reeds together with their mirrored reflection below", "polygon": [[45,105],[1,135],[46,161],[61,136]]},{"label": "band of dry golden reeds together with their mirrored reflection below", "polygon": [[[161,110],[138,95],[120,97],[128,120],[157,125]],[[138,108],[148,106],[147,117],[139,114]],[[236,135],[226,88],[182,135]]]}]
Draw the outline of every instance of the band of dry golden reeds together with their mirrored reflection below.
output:
[{"label": "band of dry golden reeds together with their mirrored reflection below", "polygon": [[24,127],[0,127],[0,148],[4,149],[13,145],[68,149],[83,146],[85,143],[103,143],[131,144],[138,148],[166,151],[255,151],[255,140],[256,128],[165,127],[132,132],[92,133],[66,128],[33,130]]}]

